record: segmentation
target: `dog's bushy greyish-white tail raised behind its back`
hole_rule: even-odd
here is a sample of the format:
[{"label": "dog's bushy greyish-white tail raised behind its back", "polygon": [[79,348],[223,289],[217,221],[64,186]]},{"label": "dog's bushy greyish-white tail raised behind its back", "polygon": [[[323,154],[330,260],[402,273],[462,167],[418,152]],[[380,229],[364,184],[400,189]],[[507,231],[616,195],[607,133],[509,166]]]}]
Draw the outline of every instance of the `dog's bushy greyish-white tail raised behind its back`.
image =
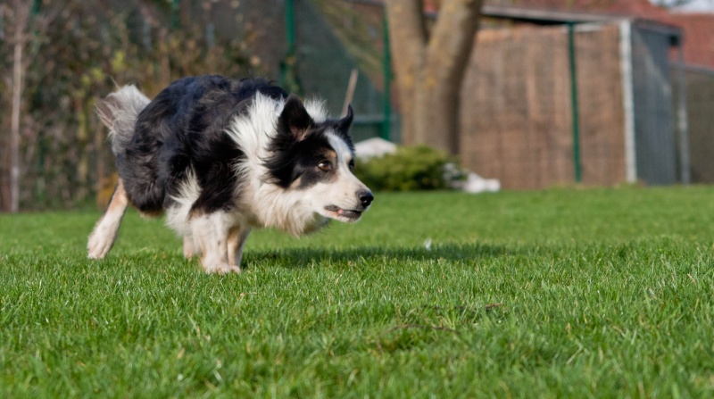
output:
[{"label": "dog's bushy greyish-white tail raised behind its back", "polygon": [[96,106],[96,113],[109,128],[112,153],[120,154],[127,148],[131,137],[134,136],[139,112],[142,112],[150,102],[151,100],[136,86],[127,85],[107,96]]}]

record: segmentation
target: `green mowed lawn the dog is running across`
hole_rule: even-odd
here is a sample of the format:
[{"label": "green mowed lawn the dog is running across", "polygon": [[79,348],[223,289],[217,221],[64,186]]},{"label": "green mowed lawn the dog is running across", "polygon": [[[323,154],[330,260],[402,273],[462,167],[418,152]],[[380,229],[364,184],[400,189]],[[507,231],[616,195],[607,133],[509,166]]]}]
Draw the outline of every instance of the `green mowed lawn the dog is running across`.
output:
[{"label": "green mowed lawn the dog is running across", "polygon": [[0,216],[0,397],[714,397],[712,187],[378,194],[229,276],[98,216]]}]

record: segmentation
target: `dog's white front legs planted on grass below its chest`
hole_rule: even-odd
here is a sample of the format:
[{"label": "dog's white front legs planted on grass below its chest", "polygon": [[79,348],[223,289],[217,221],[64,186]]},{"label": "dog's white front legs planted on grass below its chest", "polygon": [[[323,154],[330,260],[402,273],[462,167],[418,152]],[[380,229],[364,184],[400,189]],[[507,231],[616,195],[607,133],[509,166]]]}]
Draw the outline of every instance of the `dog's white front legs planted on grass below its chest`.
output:
[{"label": "dog's white front legs planted on grass below its chest", "polygon": [[195,215],[190,223],[203,270],[206,273],[240,273],[240,268],[228,261],[228,236],[233,228],[231,218],[225,212],[212,212]]}]

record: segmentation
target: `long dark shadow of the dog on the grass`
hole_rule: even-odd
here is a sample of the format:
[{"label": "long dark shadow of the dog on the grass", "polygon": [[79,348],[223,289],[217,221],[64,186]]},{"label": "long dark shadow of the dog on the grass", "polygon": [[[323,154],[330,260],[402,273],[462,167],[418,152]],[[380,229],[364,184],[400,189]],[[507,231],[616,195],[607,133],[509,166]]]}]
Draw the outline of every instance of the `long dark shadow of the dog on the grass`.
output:
[{"label": "long dark shadow of the dog on the grass", "polygon": [[505,245],[446,244],[431,247],[360,246],[347,249],[288,248],[272,251],[249,252],[243,265],[270,262],[286,268],[304,268],[325,263],[376,263],[376,262],[469,262],[474,259],[494,258],[513,253]]}]

